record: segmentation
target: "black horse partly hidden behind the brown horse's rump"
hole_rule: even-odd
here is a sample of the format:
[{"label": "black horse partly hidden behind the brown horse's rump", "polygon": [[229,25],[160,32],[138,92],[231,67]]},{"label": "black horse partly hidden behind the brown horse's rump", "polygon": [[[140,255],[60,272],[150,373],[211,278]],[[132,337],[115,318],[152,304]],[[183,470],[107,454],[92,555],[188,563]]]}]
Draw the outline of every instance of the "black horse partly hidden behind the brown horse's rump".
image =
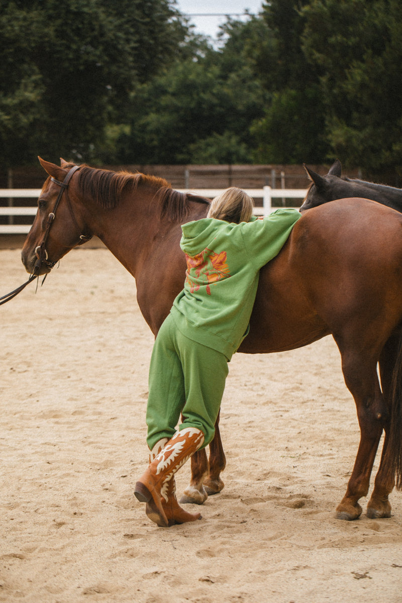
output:
[{"label": "black horse partly hidden behind the brown horse's rump", "polygon": [[317,207],[322,203],[347,197],[371,199],[387,207],[392,207],[397,212],[402,212],[402,189],[394,188],[394,186],[377,185],[374,182],[365,182],[365,180],[358,180],[357,178],[344,178],[342,177],[342,166],[339,159],[336,159],[325,176],[316,174],[306,165],[304,168],[312,183],[304,198],[303,205],[300,207],[302,213],[306,209]]}]

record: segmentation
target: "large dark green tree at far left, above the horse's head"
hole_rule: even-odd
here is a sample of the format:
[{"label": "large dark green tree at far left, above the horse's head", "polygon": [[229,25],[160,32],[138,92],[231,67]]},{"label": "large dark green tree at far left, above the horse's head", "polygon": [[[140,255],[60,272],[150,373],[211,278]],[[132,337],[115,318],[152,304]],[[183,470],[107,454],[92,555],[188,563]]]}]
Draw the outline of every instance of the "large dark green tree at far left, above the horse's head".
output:
[{"label": "large dark green tree at far left, above the horse's head", "polygon": [[0,1],[2,165],[92,159],[187,34],[174,0]]}]

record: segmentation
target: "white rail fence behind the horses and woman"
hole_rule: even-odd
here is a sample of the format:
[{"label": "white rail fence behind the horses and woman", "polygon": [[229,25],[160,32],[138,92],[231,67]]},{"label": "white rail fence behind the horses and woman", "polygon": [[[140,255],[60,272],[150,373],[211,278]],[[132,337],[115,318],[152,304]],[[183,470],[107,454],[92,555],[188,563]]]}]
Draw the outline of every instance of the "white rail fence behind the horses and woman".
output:
[{"label": "white rail fence behind the horses and woman", "polygon": [[[191,192],[201,197],[213,198],[225,189],[178,189],[181,192]],[[7,207],[0,207],[0,216],[8,216],[8,224],[0,224],[0,235],[25,235],[29,232],[30,224],[13,224],[14,216],[34,216],[37,207],[14,207],[13,198],[38,198],[41,189],[0,189],[0,198],[8,199]],[[260,189],[245,189],[253,199],[263,200],[262,207],[254,207],[256,215],[268,215],[272,211],[272,199],[303,199],[307,189],[273,189],[264,186]]]}]

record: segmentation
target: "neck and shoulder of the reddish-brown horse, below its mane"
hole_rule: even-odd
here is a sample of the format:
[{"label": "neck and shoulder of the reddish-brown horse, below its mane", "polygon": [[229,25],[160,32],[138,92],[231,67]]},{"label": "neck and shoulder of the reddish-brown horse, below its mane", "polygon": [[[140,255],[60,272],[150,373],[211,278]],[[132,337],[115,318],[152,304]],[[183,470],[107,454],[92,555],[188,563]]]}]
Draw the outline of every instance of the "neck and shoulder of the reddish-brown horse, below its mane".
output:
[{"label": "neck and shoulder of the reddish-brown horse, below its mane", "polygon": [[[95,214],[93,234],[136,279],[139,308],[156,335],[183,288],[186,259],[180,249],[182,220],[160,217],[154,195],[155,191],[138,188],[115,209]],[[183,221],[203,218],[207,207],[190,203]]]}]

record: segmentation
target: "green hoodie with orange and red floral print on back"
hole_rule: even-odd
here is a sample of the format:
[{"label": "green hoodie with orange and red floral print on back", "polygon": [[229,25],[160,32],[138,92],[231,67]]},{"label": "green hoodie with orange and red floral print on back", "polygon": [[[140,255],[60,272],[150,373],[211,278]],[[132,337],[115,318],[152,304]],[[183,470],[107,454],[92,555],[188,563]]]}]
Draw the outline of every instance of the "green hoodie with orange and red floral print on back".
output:
[{"label": "green hoodie with orange and red floral print on back", "polygon": [[171,309],[181,333],[230,360],[248,333],[260,268],[279,253],[300,217],[278,209],[247,223],[204,218],[183,224],[186,281]]}]

